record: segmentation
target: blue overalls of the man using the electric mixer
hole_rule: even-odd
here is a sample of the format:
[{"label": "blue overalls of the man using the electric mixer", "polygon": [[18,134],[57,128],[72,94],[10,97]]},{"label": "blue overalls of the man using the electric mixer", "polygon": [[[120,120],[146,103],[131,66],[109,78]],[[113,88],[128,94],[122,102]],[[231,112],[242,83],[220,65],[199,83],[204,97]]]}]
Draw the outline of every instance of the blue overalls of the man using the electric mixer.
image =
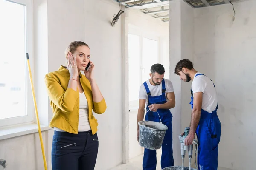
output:
[{"label": "blue overalls of the man using the electric mixer", "polygon": [[[197,74],[195,77],[199,75],[204,74]],[[193,91],[191,89],[190,104],[192,109],[193,99]],[[212,113],[201,110],[201,117],[196,129],[198,138],[198,170],[218,169],[218,144],[221,138],[221,122],[218,119],[217,109],[218,105]]]}]

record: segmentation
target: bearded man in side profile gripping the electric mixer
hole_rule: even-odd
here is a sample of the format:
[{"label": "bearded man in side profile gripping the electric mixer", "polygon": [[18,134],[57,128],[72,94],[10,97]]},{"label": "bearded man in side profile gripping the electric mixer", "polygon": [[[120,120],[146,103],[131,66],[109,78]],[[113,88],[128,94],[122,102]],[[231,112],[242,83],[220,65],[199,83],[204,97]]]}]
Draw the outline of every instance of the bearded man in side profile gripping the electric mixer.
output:
[{"label": "bearded man in side profile gripping the electric mixer", "polygon": [[190,131],[184,144],[191,145],[196,133],[198,169],[217,170],[221,123],[217,115],[218,100],[215,85],[211,79],[196,71],[189,59],[180,60],[174,73],[179,75],[184,82],[192,80]]}]

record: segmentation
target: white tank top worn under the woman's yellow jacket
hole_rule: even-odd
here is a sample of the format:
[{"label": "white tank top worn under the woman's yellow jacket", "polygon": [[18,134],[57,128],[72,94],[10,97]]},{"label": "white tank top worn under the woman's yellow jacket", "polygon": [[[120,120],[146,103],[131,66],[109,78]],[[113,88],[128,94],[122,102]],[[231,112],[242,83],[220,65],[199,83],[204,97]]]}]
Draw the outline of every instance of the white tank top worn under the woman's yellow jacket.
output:
[{"label": "white tank top worn under the woman's yellow jacket", "polygon": [[[88,102],[87,102],[86,96],[84,92],[83,93],[79,92],[79,121],[78,121],[79,132],[91,130],[88,113],[89,113]],[[53,129],[56,131],[65,132],[64,130],[61,130],[57,127],[54,127]]]}]

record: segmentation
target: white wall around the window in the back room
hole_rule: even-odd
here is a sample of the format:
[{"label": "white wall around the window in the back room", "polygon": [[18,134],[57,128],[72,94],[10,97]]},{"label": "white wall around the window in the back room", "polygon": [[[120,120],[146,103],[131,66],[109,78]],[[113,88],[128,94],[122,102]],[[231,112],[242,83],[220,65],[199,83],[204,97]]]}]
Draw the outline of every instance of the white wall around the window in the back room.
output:
[{"label": "white wall around the window in the back room", "polygon": [[[159,63],[163,64],[165,67],[165,77],[169,79],[169,24],[164,23],[161,20],[157,20],[152,16],[143,14],[143,12],[138,10],[129,9],[128,12],[129,33],[159,38]],[[137,111],[138,110],[136,109],[131,110],[129,115],[130,159],[142,154],[144,150],[137,142]]]}]

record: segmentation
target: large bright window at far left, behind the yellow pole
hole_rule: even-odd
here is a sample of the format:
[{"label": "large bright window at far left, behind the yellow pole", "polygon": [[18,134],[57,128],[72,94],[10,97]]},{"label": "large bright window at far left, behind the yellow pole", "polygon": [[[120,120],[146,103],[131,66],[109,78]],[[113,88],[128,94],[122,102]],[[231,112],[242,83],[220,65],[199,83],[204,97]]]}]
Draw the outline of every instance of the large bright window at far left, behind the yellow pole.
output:
[{"label": "large bright window at far left, behind the yellow pole", "polygon": [[33,121],[26,65],[27,52],[32,59],[31,4],[31,0],[0,0],[0,126]]}]

